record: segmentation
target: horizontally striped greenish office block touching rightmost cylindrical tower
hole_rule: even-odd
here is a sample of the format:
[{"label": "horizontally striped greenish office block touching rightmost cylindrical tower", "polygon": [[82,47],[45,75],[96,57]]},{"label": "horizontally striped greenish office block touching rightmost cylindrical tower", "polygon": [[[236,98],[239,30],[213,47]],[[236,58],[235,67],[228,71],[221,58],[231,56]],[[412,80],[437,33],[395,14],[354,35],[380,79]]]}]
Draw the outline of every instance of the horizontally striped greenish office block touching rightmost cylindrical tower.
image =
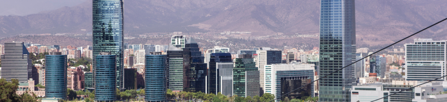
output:
[{"label": "horizontally striped greenish office block touching rightmost cylindrical tower", "polygon": [[167,52],[168,64],[168,80],[169,89],[172,91],[182,91],[183,90],[183,51],[180,48],[170,45],[169,51]]}]

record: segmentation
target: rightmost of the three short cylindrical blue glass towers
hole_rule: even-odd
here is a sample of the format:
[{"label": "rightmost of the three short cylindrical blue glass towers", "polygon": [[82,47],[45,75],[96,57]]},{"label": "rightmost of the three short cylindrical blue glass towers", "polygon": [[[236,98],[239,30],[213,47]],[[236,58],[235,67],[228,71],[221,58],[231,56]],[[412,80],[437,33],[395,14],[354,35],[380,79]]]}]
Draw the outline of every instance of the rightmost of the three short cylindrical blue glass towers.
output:
[{"label": "rightmost of the three short cylindrical blue glass towers", "polygon": [[145,56],[145,101],[166,101],[166,55],[161,52],[151,52]]}]

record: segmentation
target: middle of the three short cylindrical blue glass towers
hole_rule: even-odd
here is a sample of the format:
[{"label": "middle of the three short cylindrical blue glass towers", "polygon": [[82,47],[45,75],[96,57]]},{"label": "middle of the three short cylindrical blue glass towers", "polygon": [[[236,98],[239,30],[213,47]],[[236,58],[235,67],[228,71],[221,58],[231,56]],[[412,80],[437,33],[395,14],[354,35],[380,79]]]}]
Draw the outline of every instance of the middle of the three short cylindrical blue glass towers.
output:
[{"label": "middle of the three short cylindrical blue glass towers", "polygon": [[110,52],[101,52],[95,57],[95,100],[113,102],[116,100],[116,57]]}]

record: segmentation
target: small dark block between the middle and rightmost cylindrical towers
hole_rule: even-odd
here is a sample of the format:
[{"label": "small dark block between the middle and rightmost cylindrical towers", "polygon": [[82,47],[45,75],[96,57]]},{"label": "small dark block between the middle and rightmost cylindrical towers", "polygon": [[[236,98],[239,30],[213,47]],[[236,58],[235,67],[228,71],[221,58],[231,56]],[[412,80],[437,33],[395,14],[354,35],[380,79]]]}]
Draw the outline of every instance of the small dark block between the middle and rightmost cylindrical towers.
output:
[{"label": "small dark block between the middle and rightmost cylindrical towers", "polygon": [[138,74],[136,68],[124,68],[124,88],[137,89]]}]

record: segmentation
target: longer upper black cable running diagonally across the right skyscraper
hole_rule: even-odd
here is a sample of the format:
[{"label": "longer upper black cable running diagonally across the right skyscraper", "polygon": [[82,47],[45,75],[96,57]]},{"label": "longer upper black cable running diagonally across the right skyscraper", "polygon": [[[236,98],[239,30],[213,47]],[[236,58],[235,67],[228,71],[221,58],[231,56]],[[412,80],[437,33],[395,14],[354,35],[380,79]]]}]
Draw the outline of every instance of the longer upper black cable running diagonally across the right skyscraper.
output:
[{"label": "longer upper black cable running diagonally across the right skyscraper", "polygon": [[[399,42],[401,42],[401,41],[403,41],[403,40],[405,40],[405,39],[407,39],[407,38],[410,38],[411,36],[416,35],[416,34],[422,32],[422,31],[424,31],[424,30],[426,30],[426,29],[428,29],[428,28],[430,28],[430,27],[432,27],[432,26],[435,26],[435,25],[437,25],[437,24],[439,24],[439,23],[445,21],[445,20],[447,20],[447,18],[445,18],[445,19],[443,19],[443,20],[441,20],[441,21],[438,21],[438,22],[434,23],[433,25],[428,26],[428,27],[426,27],[426,28],[424,28],[424,29],[422,29],[422,30],[419,30],[418,32],[416,32],[416,33],[414,33],[414,34],[411,34],[411,35],[409,35],[408,37],[405,37],[405,38],[403,38],[403,39],[397,41],[396,43],[399,43]],[[393,43],[393,44],[391,44],[391,45],[389,45],[389,46],[387,46],[387,47],[385,47],[385,48],[382,48],[382,49],[380,49],[379,51],[375,51],[374,53],[372,53],[372,54],[370,54],[370,55],[367,55],[367,56],[363,57],[362,59],[358,59],[357,61],[355,61],[355,62],[352,63],[352,64],[355,64],[355,63],[357,63],[357,62],[360,61],[360,60],[363,60],[363,59],[365,59],[365,58],[367,58],[367,57],[369,57],[369,56],[371,56],[371,55],[374,55],[374,54],[377,53],[377,52],[380,52],[380,51],[382,51],[382,50],[385,50],[386,48],[391,47],[391,46],[393,46],[393,45],[396,44],[396,43]],[[336,70],[336,71],[334,71],[334,72],[331,72],[331,73],[329,73],[329,74],[326,75],[326,76],[329,76],[329,75],[331,75],[331,74],[333,74],[333,73],[335,73],[335,72],[338,72],[338,71],[340,71],[340,70],[342,70],[342,69],[344,69],[344,68],[346,68],[346,67],[348,67],[348,66],[350,66],[350,65],[352,65],[352,64],[349,64],[349,65],[347,65],[347,66],[345,66],[345,67],[343,67],[343,68],[340,68],[340,69],[338,69],[338,70]],[[326,76],[320,77],[319,79],[317,79],[317,80],[315,80],[315,81],[318,81],[318,80],[320,80],[320,79],[322,79],[322,78],[325,78]],[[443,77],[444,77],[444,76],[443,76]],[[439,78],[438,78],[438,79],[439,79]],[[310,82],[310,83],[308,83],[308,84],[306,84],[306,85],[304,85],[304,86],[310,85],[310,84],[312,84],[312,83],[315,82],[315,81],[312,81],[312,82]],[[429,82],[430,82],[430,81],[429,81]],[[424,83],[424,84],[425,84],[425,83]],[[303,88],[304,86],[301,86],[301,87],[299,87],[298,89],[301,89],[301,88]],[[295,89],[295,90],[293,90],[293,91],[291,91],[291,92],[289,92],[289,93],[292,93],[292,92],[294,92],[294,91],[296,91],[296,90],[298,90],[298,89]],[[283,97],[283,96],[285,96],[285,95],[287,95],[287,94],[289,94],[289,93],[286,93],[286,94],[282,95],[281,97]],[[398,93],[399,93],[399,92],[398,92]],[[394,93],[394,94],[396,94],[396,93]],[[389,96],[391,96],[391,95],[389,95]],[[279,97],[279,98],[281,98],[281,97]],[[272,101],[274,101],[274,100],[276,100],[276,99],[279,99],[279,98],[275,98],[275,99],[273,99]],[[272,102],[272,101],[270,101],[270,102]]]}]

